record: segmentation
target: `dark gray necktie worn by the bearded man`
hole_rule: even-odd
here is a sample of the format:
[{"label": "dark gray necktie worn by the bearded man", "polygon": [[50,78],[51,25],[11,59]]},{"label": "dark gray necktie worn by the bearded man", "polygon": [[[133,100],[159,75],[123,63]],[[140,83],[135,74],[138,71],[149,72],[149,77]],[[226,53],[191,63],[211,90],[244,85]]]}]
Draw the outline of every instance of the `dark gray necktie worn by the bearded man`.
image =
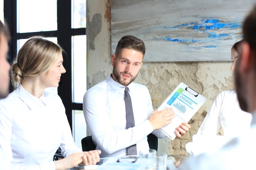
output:
[{"label": "dark gray necktie worn by the bearded man", "polygon": [[[126,87],[124,90],[124,103],[125,103],[125,110],[126,110],[126,128],[127,129],[135,126],[133,111],[132,111],[132,101],[128,91],[129,91],[129,88]],[[129,146],[127,148],[127,155],[137,155],[136,144]]]}]

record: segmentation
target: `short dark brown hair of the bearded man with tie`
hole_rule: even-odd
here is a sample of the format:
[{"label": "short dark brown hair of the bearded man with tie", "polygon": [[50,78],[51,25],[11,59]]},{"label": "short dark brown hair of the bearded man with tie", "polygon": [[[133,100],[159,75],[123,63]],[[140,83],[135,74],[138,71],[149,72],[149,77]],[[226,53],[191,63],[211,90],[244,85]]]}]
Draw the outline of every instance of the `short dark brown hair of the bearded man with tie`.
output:
[{"label": "short dark brown hair of the bearded man with tie", "polygon": [[125,35],[119,40],[115,51],[115,55],[117,57],[121,53],[122,49],[132,49],[135,51],[139,51],[143,54],[143,57],[146,51],[144,42],[141,39],[132,35]]}]

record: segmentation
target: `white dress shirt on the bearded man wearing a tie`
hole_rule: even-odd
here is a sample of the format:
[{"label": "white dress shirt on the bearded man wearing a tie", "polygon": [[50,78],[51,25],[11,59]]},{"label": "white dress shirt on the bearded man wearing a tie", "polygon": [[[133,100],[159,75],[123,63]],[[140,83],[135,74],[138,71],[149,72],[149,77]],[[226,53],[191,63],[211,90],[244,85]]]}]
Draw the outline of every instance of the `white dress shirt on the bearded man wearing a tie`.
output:
[{"label": "white dress shirt on the bearded man wearing a tie", "polygon": [[126,129],[124,103],[125,86],[115,82],[111,76],[90,88],[83,97],[83,113],[96,149],[101,157],[125,156],[126,148],[137,144],[137,153],[149,149],[147,135],[153,132],[157,137],[166,137],[160,130],[154,130],[148,121],[153,112],[148,88],[132,82],[128,85],[132,100],[135,127]]}]

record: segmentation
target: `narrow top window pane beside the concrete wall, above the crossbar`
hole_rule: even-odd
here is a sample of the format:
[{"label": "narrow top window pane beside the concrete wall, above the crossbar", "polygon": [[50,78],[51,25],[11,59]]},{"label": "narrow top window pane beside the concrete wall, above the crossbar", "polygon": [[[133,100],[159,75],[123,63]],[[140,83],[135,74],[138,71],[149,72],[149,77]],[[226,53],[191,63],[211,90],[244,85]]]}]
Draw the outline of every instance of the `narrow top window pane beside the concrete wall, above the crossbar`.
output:
[{"label": "narrow top window pane beside the concrete wall, above the crossbar", "polygon": [[86,27],[86,0],[72,0],[72,28]]}]

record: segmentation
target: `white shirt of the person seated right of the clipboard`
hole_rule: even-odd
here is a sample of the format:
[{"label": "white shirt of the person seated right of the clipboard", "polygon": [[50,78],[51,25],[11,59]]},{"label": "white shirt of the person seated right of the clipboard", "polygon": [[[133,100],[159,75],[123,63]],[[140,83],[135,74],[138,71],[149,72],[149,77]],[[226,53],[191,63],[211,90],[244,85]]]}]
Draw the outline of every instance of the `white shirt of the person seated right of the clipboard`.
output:
[{"label": "white shirt of the person seated right of the clipboard", "polygon": [[[230,137],[237,137],[239,134],[249,130],[252,121],[252,114],[241,110],[236,91],[226,90],[220,92],[213,101],[206,117],[204,118],[197,135],[201,136],[201,142],[189,142],[186,144],[186,151],[190,155],[207,150],[214,150],[221,146]],[[224,136],[216,136],[220,130],[223,130]],[[198,142],[198,141],[197,141]],[[207,149],[208,148],[208,149]]]}]

